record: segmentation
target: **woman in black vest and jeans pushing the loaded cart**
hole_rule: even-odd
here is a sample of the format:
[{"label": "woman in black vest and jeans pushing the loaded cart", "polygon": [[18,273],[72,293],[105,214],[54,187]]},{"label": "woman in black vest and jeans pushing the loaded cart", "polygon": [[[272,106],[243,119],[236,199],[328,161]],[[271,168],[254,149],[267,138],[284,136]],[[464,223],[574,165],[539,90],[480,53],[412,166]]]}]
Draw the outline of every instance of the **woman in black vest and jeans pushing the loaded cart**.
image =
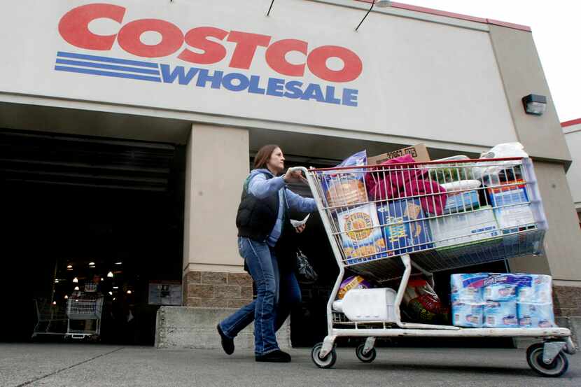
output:
[{"label": "woman in black vest and jeans pushing the loaded cart", "polygon": [[244,181],[236,216],[238,250],[255,282],[256,299],[217,325],[222,348],[230,355],[238,332],[255,321],[254,352],[258,362],[290,362],[290,355],[279,349],[275,334],[290,307],[300,302],[300,288],[293,273],[295,262],[287,262],[283,251],[276,251],[280,251],[277,247],[288,246],[282,241],[286,237],[281,237],[293,227],[288,211],[316,210],[314,199],[286,188],[287,183],[304,181],[300,171],[278,176],[283,169],[284,156],[279,146],[266,145],[258,150],[254,169]]}]

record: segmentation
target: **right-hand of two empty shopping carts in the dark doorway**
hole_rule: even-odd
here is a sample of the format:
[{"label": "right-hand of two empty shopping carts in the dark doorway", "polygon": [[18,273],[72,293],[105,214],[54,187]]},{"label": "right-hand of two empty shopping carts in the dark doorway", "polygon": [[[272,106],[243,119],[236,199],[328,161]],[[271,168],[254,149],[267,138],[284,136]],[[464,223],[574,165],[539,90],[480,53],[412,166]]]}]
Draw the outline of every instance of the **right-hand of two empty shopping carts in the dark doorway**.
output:
[{"label": "right-hand of two empty shopping carts in the dark doorway", "polygon": [[92,339],[101,335],[103,295],[93,292],[74,292],[66,304],[65,338]]}]

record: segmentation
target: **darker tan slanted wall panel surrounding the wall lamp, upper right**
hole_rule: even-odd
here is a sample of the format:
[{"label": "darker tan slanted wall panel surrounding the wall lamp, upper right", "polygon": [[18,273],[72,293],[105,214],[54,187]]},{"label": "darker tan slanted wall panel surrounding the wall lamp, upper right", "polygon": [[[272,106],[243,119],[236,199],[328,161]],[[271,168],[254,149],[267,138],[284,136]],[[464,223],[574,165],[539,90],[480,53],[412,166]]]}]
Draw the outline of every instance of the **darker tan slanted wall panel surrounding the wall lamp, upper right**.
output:
[{"label": "darker tan slanted wall panel surrounding the wall lamp, upper right", "polygon": [[[491,25],[490,37],[514,128],[526,152],[534,157],[570,160],[532,34]],[[521,99],[528,94],[547,97],[545,114],[539,117],[524,113]]]}]

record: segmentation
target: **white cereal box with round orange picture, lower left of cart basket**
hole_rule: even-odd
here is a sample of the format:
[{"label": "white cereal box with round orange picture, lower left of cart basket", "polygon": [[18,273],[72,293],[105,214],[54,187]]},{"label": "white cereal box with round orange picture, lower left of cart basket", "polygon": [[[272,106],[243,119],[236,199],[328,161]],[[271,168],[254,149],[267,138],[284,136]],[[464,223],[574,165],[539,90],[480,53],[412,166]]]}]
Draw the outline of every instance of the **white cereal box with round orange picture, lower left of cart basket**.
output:
[{"label": "white cereal box with round orange picture, lower left of cart basket", "polygon": [[347,264],[387,256],[374,203],[337,212],[337,223]]}]

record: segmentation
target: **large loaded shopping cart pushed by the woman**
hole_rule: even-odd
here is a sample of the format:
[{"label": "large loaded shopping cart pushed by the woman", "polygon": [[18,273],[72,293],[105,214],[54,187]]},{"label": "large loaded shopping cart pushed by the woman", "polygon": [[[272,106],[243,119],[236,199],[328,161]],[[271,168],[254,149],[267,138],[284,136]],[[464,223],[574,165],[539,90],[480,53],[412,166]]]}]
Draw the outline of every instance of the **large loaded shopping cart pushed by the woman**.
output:
[{"label": "large loaded shopping cart pushed by the woman", "polygon": [[[436,272],[543,253],[547,220],[529,158],[298,169],[339,266],[328,335],[311,351],[318,367],[335,364],[337,337],[366,337],[356,349],[366,363],[376,357],[377,337],[533,337],[541,342],[526,351],[531,368],[552,377],[566,371],[563,353],[575,353],[566,328],[461,328],[404,322],[400,313],[412,272],[433,283]],[[482,227],[461,227],[467,216]],[[358,317],[348,318],[336,302],[346,272],[380,287],[399,281],[397,293],[388,305],[360,298]]]}]

